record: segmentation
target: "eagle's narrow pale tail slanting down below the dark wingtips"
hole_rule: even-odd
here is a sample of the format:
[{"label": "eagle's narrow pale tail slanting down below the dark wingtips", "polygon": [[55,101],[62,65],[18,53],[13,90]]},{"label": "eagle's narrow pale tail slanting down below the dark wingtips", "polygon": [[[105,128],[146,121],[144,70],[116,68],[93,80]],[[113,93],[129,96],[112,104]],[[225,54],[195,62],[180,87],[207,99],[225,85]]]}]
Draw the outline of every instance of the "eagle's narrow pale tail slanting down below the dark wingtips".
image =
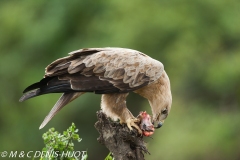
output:
[{"label": "eagle's narrow pale tail slanting down below the dark wingtips", "polygon": [[84,92],[63,93],[62,96],[57,101],[57,103],[53,106],[51,111],[45,117],[39,129],[42,129],[65,105],[67,105],[68,103],[70,103],[71,101],[73,101],[82,94],[84,94]]}]

